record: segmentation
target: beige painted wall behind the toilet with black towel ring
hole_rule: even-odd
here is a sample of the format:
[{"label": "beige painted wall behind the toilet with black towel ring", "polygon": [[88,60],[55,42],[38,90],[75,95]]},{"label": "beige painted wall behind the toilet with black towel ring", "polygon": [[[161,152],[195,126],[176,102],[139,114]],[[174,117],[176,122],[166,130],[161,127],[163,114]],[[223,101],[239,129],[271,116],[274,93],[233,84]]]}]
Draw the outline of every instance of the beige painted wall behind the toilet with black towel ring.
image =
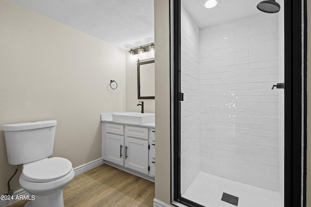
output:
[{"label": "beige painted wall behind the toilet with black towel ring", "polygon": [[[101,158],[100,114],[125,111],[125,51],[8,0],[0,28],[0,125],[55,119],[53,156],[73,167]],[[0,192],[14,170],[0,130]]]}]

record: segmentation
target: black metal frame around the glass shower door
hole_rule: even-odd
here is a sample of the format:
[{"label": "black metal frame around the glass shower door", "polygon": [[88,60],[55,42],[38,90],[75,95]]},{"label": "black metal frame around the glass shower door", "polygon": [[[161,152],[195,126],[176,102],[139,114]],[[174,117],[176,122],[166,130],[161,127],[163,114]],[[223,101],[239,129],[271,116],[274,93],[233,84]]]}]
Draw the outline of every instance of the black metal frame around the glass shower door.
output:
[{"label": "black metal frame around the glass shower door", "polygon": [[[304,8],[302,8],[302,1]],[[306,77],[306,42],[307,42],[307,0],[284,0],[284,207],[306,207],[306,199],[301,203],[301,195],[306,196],[306,107],[304,110],[304,123],[302,123],[302,90],[306,89],[306,79],[302,82],[302,57],[304,61],[303,75]],[[181,2],[171,0],[173,17],[171,16],[171,31],[173,38],[173,113],[172,113],[172,136],[173,136],[173,193],[172,201],[181,203],[189,207],[202,207],[181,196],[180,192],[180,136],[181,136],[181,103],[183,94],[181,92]],[[302,10],[304,9],[304,10]],[[302,11],[304,11],[304,28],[302,24]],[[302,31],[304,30],[304,54],[302,54]],[[304,93],[304,106],[306,105],[306,93]],[[304,149],[302,149],[302,127],[304,128]],[[304,155],[304,163],[301,166],[301,155]],[[303,167],[303,168],[302,168]],[[303,169],[303,175],[302,171]],[[303,176],[303,189],[301,189],[301,178]]]}]

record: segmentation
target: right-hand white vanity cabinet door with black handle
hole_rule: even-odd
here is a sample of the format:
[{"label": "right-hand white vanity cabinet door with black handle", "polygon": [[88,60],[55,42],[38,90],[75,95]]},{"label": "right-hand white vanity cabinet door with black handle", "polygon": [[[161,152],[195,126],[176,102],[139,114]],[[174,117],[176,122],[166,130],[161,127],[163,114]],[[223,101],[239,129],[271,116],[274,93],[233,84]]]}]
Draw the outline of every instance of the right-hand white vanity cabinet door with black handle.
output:
[{"label": "right-hand white vanity cabinet door with black handle", "polygon": [[148,141],[125,137],[125,167],[148,174]]}]

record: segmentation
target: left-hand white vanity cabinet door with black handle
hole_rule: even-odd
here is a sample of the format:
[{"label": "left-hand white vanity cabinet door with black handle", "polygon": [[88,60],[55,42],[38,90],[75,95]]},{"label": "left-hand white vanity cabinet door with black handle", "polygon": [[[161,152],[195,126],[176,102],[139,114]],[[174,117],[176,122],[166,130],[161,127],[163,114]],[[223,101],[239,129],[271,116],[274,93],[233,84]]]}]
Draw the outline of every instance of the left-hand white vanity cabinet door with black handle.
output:
[{"label": "left-hand white vanity cabinet door with black handle", "polygon": [[124,137],[106,133],[106,160],[124,164]]}]

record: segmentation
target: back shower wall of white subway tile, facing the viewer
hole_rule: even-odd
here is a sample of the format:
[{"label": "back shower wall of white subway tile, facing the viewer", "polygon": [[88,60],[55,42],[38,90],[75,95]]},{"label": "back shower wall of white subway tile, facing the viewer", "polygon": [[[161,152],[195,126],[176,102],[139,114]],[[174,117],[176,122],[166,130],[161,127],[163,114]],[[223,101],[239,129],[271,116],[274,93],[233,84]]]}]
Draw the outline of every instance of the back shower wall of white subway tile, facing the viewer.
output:
[{"label": "back shower wall of white subway tile, facing the viewer", "polygon": [[278,191],[277,15],[200,30],[201,171]]}]

